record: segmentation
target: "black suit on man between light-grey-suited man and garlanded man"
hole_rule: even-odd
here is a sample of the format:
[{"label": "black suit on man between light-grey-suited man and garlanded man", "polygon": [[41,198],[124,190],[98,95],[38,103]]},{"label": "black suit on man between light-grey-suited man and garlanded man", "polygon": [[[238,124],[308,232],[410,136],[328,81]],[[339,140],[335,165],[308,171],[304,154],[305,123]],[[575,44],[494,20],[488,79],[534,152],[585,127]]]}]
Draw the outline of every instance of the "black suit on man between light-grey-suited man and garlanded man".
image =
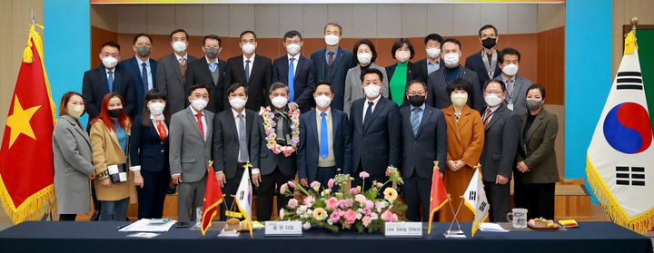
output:
[{"label": "black suit on man between light-grey-suited man and garlanded man", "polygon": [[[247,143],[247,156],[250,157],[250,138],[253,125],[256,123],[256,112],[245,109],[245,138]],[[239,183],[243,178],[243,166],[238,166],[239,160],[239,132],[237,131],[236,120],[232,108],[218,113],[213,118],[213,170],[223,171],[227,183],[224,184],[223,194],[228,207],[232,206],[233,197],[238,190]],[[254,128],[257,130],[256,128]],[[245,161],[247,162],[247,161]],[[225,219],[224,206],[221,205],[221,219]]]}]

